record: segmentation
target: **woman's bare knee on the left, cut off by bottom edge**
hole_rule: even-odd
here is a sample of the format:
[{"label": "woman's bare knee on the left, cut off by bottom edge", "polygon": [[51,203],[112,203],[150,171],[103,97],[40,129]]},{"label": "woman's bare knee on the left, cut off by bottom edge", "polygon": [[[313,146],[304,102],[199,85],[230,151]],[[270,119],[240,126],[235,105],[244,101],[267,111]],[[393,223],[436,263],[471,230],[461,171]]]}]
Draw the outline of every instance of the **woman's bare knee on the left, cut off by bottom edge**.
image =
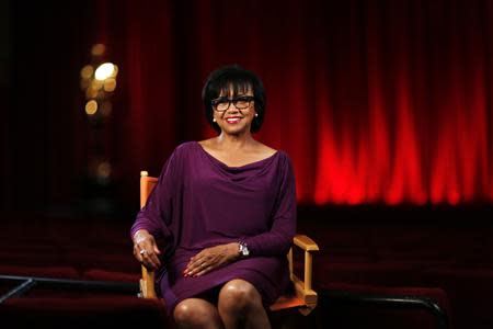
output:
[{"label": "woman's bare knee on the left, cut off by bottom edge", "polygon": [[173,311],[177,328],[225,328],[216,306],[202,298],[187,298],[180,302]]}]

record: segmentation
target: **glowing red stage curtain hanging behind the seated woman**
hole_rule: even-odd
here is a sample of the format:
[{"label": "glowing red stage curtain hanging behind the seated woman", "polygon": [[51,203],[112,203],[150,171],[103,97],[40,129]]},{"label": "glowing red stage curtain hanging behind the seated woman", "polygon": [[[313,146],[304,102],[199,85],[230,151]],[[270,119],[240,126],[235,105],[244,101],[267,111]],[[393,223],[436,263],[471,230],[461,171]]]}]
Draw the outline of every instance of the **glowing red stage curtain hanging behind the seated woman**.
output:
[{"label": "glowing red stage curtain hanging behind the seated woman", "polygon": [[257,137],[293,158],[300,202],[493,201],[491,1],[103,3],[121,179],[213,135],[200,88],[236,63],[264,81]]}]

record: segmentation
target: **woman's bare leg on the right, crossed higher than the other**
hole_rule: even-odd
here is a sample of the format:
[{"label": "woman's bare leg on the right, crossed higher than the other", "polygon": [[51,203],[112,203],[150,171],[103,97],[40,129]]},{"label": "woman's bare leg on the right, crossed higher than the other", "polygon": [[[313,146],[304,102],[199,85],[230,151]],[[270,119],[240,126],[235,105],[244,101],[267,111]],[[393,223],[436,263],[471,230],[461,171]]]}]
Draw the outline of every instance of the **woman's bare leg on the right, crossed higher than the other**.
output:
[{"label": "woman's bare leg on the right, crossed higher than the other", "polygon": [[231,280],[225,284],[219,292],[218,310],[227,329],[271,328],[261,295],[244,280]]}]

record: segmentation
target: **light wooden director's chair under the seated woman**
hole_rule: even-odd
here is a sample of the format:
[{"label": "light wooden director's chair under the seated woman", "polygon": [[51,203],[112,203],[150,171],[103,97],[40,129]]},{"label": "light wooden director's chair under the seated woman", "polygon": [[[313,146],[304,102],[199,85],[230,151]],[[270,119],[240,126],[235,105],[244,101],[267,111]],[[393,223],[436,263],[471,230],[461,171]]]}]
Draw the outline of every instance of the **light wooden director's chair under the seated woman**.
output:
[{"label": "light wooden director's chair under the seated woman", "polygon": [[[144,207],[147,197],[151,193],[158,179],[149,177],[147,171],[140,172],[140,207]],[[280,296],[273,305],[271,310],[279,310],[286,308],[297,308],[302,315],[308,315],[317,306],[317,293],[311,288],[312,274],[312,252],[318,251],[319,247],[309,237],[296,235],[294,246],[305,251],[305,281],[300,280],[294,273],[293,266],[293,248],[287,254],[289,262],[290,279],[295,286],[295,294]],[[154,291],[154,272],[148,271],[146,266],[141,266],[142,279],[140,280],[140,296],[144,298],[157,298]]]}]

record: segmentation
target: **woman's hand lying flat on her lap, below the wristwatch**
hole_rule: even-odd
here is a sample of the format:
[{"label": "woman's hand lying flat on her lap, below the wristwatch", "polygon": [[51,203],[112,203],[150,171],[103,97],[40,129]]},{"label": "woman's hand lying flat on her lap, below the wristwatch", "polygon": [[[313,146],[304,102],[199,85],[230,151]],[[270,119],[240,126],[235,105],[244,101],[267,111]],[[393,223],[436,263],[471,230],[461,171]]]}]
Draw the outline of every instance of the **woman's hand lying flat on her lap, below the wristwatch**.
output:
[{"label": "woman's hand lying flat on her lap, below the wristwatch", "polygon": [[200,276],[239,258],[238,242],[206,248],[192,257],[183,271],[184,276]]}]

